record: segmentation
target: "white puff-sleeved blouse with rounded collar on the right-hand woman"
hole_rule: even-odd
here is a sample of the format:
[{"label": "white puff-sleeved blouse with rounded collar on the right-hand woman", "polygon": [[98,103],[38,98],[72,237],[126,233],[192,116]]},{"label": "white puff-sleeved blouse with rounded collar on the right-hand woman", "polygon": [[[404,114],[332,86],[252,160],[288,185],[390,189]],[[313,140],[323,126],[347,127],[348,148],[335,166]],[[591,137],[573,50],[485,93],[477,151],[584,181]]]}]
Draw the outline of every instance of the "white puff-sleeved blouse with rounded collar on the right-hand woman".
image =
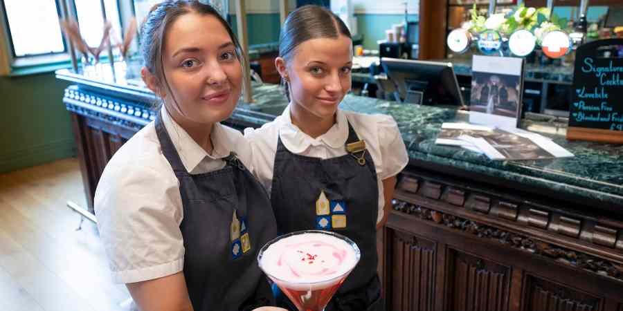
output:
[{"label": "white puff-sleeved blouse with rounded collar on the right-hand woman", "polygon": [[262,185],[271,192],[273,167],[278,138],[291,152],[314,158],[335,158],[347,154],[348,123],[372,156],[379,186],[379,211],[377,223],[383,219],[383,180],[396,176],[408,163],[408,155],[398,126],[390,115],[354,113],[338,109],[336,123],[318,138],[311,138],[292,124],[290,106],[273,122],[260,129],[245,129],[244,135],[253,147],[253,168]]}]

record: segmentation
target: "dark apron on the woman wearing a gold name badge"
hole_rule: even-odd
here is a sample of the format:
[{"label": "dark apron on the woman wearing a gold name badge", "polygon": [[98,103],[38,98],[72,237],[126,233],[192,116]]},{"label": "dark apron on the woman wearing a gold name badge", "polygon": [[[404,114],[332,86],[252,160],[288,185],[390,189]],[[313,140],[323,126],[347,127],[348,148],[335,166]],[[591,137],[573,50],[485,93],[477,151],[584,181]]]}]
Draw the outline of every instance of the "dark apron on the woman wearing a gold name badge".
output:
[{"label": "dark apron on the woman wearing a gold name badge", "polygon": [[[359,138],[349,123],[346,144],[357,141]],[[318,212],[316,207],[321,192],[329,200],[328,214],[326,210]],[[384,310],[377,275],[379,186],[368,151],[323,160],[291,153],[279,138],[271,202],[280,234],[329,230],[347,236],[359,246],[361,260],[329,301],[326,311]],[[284,302],[285,308],[296,310],[287,299]]]}]

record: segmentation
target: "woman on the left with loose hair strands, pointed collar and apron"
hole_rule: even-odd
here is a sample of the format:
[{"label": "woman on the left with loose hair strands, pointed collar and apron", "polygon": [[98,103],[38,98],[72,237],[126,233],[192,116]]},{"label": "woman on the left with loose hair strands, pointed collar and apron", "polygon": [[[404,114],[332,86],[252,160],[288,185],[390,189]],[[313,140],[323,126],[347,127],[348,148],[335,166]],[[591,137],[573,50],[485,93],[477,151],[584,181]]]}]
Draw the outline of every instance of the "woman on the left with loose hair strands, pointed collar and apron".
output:
[{"label": "woman on the left with loose hair strands, pointed collar and apron", "polygon": [[256,259],[276,237],[270,200],[242,134],[219,124],[240,98],[240,46],[199,1],[159,3],[141,35],[143,81],[162,107],[109,161],[96,191],[113,279],[144,311],[271,305]]}]

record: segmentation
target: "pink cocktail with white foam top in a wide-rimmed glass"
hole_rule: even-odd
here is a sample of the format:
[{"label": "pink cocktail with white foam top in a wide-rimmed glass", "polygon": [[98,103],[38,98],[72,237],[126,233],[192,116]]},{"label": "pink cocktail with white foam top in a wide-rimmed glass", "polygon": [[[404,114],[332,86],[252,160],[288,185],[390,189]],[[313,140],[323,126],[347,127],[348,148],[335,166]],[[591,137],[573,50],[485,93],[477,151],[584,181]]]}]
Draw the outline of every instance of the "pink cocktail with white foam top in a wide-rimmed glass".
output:
[{"label": "pink cocktail with white foam top in a wide-rimmed glass", "polygon": [[322,311],[359,258],[359,247],[349,238],[307,230],[264,245],[258,263],[298,310]]}]

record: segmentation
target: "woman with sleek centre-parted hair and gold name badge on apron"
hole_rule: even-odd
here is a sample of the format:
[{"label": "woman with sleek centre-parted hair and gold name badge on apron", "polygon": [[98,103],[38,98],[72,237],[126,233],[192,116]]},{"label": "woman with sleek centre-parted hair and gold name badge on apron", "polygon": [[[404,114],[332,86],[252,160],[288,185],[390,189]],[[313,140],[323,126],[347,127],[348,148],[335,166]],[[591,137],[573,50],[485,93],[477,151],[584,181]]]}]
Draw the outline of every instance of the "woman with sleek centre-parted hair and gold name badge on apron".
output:
[{"label": "woman with sleek centre-parted hair and gold name badge on apron", "polygon": [[325,310],[384,310],[377,228],[386,222],[396,175],[408,162],[397,124],[387,115],[338,109],[350,91],[352,39],[325,8],[290,13],[276,66],[289,106],[245,136],[255,171],[270,189],[278,230],[324,229],[351,238],[361,261]]}]

